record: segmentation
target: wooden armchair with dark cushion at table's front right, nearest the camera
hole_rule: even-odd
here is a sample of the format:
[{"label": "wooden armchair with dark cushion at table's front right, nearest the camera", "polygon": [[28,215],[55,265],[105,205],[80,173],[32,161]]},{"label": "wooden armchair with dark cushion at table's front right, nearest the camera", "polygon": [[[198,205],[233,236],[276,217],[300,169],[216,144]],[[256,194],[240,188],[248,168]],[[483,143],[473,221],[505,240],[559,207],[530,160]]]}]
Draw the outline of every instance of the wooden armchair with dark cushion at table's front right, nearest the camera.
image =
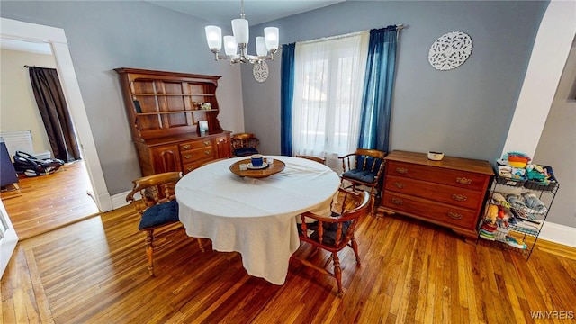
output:
[{"label": "wooden armchair with dark cushion at table's front right, nearest the camera", "polygon": [[[338,296],[341,296],[343,293],[342,269],[340,268],[338,252],[344,247],[351,247],[356,255],[356,266],[360,266],[358,245],[354,234],[358,220],[370,212],[370,194],[365,191],[355,192],[339,188],[338,201],[337,206],[339,208],[335,209],[339,212],[332,211],[331,217],[320,216],[311,212],[302,213],[302,224],[298,224],[300,240],[315,248],[310,256],[300,257],[298,260],[304,266],[310,266],[322,274],[334,277],[338,284]],[[306,223],[306,221],[310,221],[309,219],[315,221]],[[324,266],[317,266],[310,261],[310,258],[319,248],[332,254]],[[330,259],[334,266],[333,272],[326,268]]]}]

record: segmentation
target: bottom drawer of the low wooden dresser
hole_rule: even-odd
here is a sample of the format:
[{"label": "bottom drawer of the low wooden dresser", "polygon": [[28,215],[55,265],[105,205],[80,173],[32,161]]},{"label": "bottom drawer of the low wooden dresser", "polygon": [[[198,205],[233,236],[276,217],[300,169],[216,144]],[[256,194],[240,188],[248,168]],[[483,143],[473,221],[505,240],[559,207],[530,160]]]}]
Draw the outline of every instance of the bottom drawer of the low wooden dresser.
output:
[{"label": "bottom drawer of the low wooden dresser", "polygon": [[448,225],[450,228],[475,229],[478,214],[474,210],[451,206],[440,202],[431,202],[418,197],[385,191],[383,207],[400,214]]}]

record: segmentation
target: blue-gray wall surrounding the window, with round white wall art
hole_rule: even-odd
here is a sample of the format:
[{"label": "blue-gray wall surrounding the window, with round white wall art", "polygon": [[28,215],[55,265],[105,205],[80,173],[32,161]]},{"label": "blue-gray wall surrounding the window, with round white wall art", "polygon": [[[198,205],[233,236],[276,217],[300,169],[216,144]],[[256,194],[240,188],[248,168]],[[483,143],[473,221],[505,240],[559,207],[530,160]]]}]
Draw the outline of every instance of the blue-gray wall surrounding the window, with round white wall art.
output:
[{"label": "blue-gray wall surrounding the window, with round white wall art", "polygon": [[[280,28],[282,43],[352,31],[407,25],[401,31],[393,98],[391,149],[443,151],[494,161],[506,139],[536,31],[547,2],[347,1],[251,29]],[[442,34],[464,31],[473,53],[451,71],[428,64],[428,49]],[[281,55],[278,55],[281,58]],[[263,84],[242,67],[247,131],[264,152],[280,152],[280,59]],[[263,136],[265,135],[266,136]]]}]

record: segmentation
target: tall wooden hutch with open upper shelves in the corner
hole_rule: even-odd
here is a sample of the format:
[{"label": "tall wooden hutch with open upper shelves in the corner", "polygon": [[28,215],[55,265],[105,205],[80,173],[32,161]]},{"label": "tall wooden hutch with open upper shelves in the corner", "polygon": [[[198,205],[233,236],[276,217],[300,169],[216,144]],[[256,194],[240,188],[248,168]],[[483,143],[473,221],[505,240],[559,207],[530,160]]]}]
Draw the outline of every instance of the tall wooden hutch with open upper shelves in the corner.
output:
[{"label": "tall wooden hutch with open upper shelves in the corner", "polygon": [[[188,173],[212,159],[231,157],[230,132],[218,120],[220,76],[114,70],[120,75],[142,175]],[[207,121],[208,130],[201,132],[199,121]]]}]

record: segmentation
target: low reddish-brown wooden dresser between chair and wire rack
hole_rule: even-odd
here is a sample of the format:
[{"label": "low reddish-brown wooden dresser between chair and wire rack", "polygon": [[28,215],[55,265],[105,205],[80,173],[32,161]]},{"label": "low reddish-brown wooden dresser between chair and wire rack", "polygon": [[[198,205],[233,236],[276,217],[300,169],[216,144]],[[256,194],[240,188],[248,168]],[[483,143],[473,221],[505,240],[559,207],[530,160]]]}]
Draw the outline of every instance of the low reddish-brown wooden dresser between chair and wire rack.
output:
[{"label": "low reddish-brown wooden dresser between chair and wire rack", "polygon": [[393,212],[478,238],[487,189],[494,175],[487,161],[459,157],[428,159],[426,153],[393,151],[386,158],[378,211]]}]

